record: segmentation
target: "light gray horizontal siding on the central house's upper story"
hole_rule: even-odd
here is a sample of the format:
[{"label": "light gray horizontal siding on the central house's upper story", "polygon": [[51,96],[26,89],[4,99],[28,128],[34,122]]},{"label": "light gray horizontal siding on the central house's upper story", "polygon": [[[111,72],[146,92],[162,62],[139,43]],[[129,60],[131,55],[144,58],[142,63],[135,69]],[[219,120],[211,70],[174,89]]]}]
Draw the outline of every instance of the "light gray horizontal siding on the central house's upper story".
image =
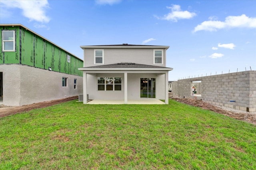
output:
[{"label": "light gray horizontal siding on the central house's upper story", "polygon": [[[132,62],[137,64],[154,65],[154,54],[152,49],[104,49],[104,65],[121,62]],[[166,67],[166,50],[163,49],[163,63],[157,66]],[[84,67],[96,66],[94,64],[94,49],[84,50]]]}]

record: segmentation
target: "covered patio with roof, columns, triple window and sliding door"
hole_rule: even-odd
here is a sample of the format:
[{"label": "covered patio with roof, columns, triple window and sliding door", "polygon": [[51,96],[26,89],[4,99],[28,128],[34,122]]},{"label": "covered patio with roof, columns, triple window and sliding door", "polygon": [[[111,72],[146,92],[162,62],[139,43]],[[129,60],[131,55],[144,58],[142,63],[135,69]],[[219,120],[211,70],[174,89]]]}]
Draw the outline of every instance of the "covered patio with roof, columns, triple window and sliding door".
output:
[{"label": "covered patio with roof, columns, triple window and sliding door", "polygon": [[168,104],[168,71],[172,68],[116,63],[79,70],[83,71],[83,95],[92,99],[84,104]]}]

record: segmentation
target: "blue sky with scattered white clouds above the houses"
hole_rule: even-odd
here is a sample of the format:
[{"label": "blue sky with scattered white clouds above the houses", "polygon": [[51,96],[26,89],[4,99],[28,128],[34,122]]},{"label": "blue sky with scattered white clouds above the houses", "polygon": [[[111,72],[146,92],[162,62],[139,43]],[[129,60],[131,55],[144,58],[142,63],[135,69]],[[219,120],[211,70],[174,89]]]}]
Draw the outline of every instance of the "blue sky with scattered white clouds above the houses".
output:
[{"label": "blue sky with scattered white clouds above the houses", "polygon": [[255,0],[0,0],[0,23],[81,59],[81,45],[167,45],[169,80],[178,80],[256,70],[255,9]]}]

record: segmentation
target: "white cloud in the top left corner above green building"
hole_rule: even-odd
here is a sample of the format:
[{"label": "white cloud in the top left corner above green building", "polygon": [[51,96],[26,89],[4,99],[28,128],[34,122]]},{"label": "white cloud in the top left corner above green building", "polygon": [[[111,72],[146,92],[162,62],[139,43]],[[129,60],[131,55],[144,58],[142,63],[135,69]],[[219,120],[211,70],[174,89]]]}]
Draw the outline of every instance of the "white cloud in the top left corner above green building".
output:
[{"label": "white cloud in the top left corner above green building", "polygon": [[[29,21],[48,23],[50,18],[46,16],[46,9],[49,8],[47,0],[2,0],[1,10],[19,8],[22,15],[29,18]],[[9,14],[10,15],[10,14]]]}]

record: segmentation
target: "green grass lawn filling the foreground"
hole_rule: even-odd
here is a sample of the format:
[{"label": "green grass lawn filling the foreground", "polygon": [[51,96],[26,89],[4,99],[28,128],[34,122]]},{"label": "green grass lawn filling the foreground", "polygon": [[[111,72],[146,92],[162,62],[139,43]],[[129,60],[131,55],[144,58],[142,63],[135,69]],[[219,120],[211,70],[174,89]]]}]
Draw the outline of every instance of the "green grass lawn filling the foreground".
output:
[{"label": "green grass lawn filling the foreground", "polygon": [[0,118],[0,169],[256,169],[256,126],[173,100]]}]

